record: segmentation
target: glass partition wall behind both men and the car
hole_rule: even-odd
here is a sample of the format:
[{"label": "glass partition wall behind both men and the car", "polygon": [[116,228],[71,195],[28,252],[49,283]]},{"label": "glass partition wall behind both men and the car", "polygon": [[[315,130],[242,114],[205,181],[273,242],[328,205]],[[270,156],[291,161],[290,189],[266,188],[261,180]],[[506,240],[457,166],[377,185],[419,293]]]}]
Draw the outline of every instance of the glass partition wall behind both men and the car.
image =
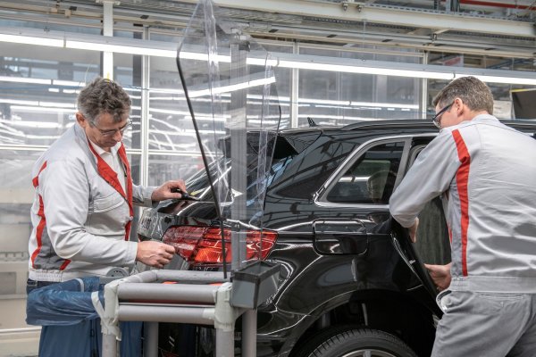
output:
[{"label": "glass partition wall behind both men and the car", "polygon": [[[80,26],[6,21],[0,26],[62,30],[98,35],[100,21]],[[124,24],[123,28],[127,27]],[[179,44],[180,30],[132,27],[116,30],[118,38],[145,38]],[[442,54],[381,46],[327,46],[296,41],[261,42],[272,54],[316,56],[339,61],[372,60],[392,63],[459,64]],[[29,207],[33,197],[31,166],[48,145],[76,125],[76,97],[85,83],[102,73],[103,54],[70,49],[0,42],[0,357],[14,355],[2,333],[35,331],[25,324],[25,286],[28,276]],[[465,58],[465,67],[475,65]],[[497,66],[523,70],[521,62]],[[490,59],[488,60],[490,61]],[[447,63],[447,64],[446,64]],[[450,64],[448,64],[450,63]],[[494,62],[495,63],[495,62]],[[501,64],[502,63],[502,64]],[[281,103],[281,129],[347,125],[358,120],[423,119],[433,112],[431,98],[448,80],[415,79],[325,69],[276,69]],[[133,127],[124,136],[136,184],[157,186],[169,179],[188,179],[203,169],[197,139],[180,86],[175,58],[113,54],[113,79],[132,98]],[[527,86],[490,87],[509,117],[509,91]],[[252,104],[260,98],[248,97]],[[202,123],[202,118],[199,118]],[[203,128],[200,128],[203,129]],[[136,221],[132,238],[136,239]],[[34,336],[35,337],[35,336]],[[35,340],[34,338],[34,341]],[[26,345],[30,355],[37,345]],[[19,348],[19,347],[16,347]],[[11,353],[11,354],[10,354]],[[21,352],[25,355],[27,351]],[[16,352],[15,352],[16,354]]]}]

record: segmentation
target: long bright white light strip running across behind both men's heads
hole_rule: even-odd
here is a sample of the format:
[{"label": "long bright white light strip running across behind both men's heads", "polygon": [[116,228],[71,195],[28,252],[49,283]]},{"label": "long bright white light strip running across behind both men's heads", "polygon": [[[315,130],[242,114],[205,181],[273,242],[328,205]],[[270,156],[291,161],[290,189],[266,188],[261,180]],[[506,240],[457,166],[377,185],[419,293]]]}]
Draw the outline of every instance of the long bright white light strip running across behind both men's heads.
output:
[{"label": "long bright white light strip running across behind both men's heads", "polygon": [[[64,48],[75,48],[80,50],[114,52],[121,54],[139,54],[157,57],[174,58],[177,55],[176,43],[163,41],[144,40],[123,37],[105,37],[98,35],[80,35],[42,29],[14,29],[11,27],[0,27],[0,42],[12,42],[19,44],[39,45],[39,46],[59,46]],[[187,51],[188,50],[188,51]],[[209,56],[205,54],[204,46],[185,47],[180,52],[180,58],[185,60],[207,61]],[[230,56],[225,54],[214,54],[210,56],[211,61],[230,62]],[[430,64],[406,63],[406,62],[380,62],[362,61],[348,58],[314,56],[305,54],[275,54],[270,56],[255,52],[250,53],[247,58],[249,65],[272,65],[298,70],[312,71],[335,71],[343,73],[373,74],[406,77],[414,79],[443,79],[451,80],[464,76],[474,76],[490,83],[518,84],[536,86],[536,72],[531,71],[505,71],[487,70],[464,67],[446,67]],[[0,78],[0,80],[2,80]],[[28,79],[45,80],[50,84],[50,79]],[[22,79],[20,80],[22,82]],[[38,83],[28,81],[26,83]],[[57,81],[56,83],[57,84]],[[80,86],[79,83],[72,83],[72,86]]]}]

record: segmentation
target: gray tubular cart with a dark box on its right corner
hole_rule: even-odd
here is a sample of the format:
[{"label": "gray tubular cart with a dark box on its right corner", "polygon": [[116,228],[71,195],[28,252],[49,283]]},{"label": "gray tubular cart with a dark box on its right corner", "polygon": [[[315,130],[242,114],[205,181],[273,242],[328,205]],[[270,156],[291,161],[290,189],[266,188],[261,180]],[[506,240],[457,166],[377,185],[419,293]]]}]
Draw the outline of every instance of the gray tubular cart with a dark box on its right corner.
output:
[{"label": "gray tubular cart with a dark box on its right corner", "polygon": [[235,320],[242,314],[242,355],[255,356],[255,308],[275,293],[278,279],[278,266],[255,262],[236,271],[232,283],[221,272],[173,270],[147,270],[114,280],[105,286],[102,357],[117,355],[120,321],[147,321],[146,357],[158,355],[157,322],[214,326],[216,355],[233,356]]}]

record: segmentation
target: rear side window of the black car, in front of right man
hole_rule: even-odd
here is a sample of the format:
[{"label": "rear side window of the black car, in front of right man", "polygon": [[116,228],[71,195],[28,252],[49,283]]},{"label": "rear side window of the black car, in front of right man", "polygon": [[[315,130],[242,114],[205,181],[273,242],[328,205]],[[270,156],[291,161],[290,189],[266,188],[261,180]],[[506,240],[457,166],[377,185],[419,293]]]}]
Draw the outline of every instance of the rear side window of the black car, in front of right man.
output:
[{"label": "rear side window of the black car, in front of right man", "polygon": [[331,187],[332,203],[389,203],[395,187],[404,142],[374,145],[361,155]]}]

